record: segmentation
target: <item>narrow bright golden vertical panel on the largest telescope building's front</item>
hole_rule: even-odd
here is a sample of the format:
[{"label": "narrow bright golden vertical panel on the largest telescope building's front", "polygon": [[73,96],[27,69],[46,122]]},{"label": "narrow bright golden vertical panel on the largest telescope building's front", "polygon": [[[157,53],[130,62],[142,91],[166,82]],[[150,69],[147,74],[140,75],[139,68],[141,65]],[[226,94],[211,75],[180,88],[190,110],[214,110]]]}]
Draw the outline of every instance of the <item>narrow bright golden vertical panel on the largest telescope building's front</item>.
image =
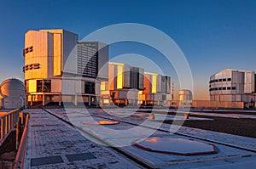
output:
[{"label": "narrow bright golden vertical panel on the largest telescope building's front", "polygon": [[54,34],[54,59],[53,76],[61,76],[61,34]]}]

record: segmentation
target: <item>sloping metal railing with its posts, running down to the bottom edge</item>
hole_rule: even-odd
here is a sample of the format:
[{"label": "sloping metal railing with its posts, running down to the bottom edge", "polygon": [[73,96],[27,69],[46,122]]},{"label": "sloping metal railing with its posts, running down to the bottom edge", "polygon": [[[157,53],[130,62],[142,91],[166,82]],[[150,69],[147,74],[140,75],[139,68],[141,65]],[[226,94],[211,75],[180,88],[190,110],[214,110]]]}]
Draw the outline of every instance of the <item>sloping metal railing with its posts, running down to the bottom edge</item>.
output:
[{"label": "sloping metal railing with its posts, running down to the bottom edge", "polygon": [[[19,128],[19,125],[25,126],[22,132],[22,136],[20,138],[20,144],[19,149],[17,151],[17,154],[15,156],[14,166],[13,169],[23,169],[24,166],[24,160],[25,160],[25,154],[26,154],[26,142],[27,142],[27,127],[28,127],[28,121],[29,121],[29,114],[28,113],[20,113],[20,121],[18,122],[17,128]],[[18,138],[18,136],[17,136]]]}]

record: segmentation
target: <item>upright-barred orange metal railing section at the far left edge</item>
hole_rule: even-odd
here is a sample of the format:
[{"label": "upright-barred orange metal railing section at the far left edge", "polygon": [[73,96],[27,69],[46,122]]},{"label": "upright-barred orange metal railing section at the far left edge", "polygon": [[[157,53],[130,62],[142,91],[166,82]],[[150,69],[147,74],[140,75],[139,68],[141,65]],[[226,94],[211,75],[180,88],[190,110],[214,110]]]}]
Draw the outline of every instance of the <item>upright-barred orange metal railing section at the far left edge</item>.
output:
[{"label": "upright-barred orange metal railing section at the far left edge", "polygon": [[3,141],[7,138],[9,132],[15,129],[19,111],[19,109],[12,110],[6,115],[0,116],[0,145],[3,144]]}]

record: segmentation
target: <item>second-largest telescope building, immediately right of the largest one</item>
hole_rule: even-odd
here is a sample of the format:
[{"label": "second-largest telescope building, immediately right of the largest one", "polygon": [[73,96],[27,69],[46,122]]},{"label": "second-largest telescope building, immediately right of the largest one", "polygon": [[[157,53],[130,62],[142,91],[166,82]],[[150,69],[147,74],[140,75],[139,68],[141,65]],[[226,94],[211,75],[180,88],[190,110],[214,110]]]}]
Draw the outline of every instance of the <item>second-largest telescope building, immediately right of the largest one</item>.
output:
[{"label": "second-largest telescope building, immediately right of the largest one", "polygon": [[108,82],[102,82],[102,105],[137,106],[144,89],[144,70],[123,63],[108,63]]}]

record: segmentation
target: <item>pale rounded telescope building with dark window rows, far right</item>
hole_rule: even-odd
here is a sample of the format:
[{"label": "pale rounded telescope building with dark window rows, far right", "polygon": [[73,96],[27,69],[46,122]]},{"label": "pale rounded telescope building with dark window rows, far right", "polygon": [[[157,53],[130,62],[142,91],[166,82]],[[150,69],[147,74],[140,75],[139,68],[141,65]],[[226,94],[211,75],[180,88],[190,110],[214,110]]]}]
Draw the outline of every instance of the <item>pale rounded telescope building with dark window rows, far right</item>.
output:
[{"label": "pale rounded telescope building with dark window rows, far right", "polygon": [[[212,101],[255,103],[255,72],[250,70],[221,70],[210,77]],[[253,106],[251,105],[251,106]]]}]

